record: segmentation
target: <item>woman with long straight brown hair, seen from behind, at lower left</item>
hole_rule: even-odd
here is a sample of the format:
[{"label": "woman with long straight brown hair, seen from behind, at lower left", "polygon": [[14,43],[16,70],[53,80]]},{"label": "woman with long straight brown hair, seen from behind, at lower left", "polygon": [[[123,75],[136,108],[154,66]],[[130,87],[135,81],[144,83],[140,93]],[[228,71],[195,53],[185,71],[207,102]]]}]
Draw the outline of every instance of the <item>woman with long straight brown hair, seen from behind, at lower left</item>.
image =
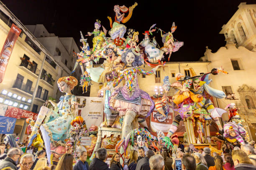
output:
[{"label": "woman with long straight brown hair, seen from behind, at lower left", "polygon": [[72,170],[74,157],[70,153],[61,156],[55,170]]}]

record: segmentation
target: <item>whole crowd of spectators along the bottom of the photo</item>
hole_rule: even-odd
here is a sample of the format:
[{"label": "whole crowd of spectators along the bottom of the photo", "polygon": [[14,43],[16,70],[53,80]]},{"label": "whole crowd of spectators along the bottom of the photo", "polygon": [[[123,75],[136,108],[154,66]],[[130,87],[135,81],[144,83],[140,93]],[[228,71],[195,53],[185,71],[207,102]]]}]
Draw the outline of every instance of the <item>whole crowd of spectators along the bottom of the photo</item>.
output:
[{"label": "whole crowd of spectators along the bottom of the photo", "polygon": [[97,150],[90,164],[85,150],[79,153],[76,161],[72,154],[65,153],[57,165],[48,164],[45,150],[37,151],[35,157],[31,153],[22,154],[19,148],[10,148],[7,153],[1,150],[0,170],[256,170],[255,149],[248,144],[222,155],[211,153],[208,147],[191,150],[180,145],[176,153],[166,147],[146,153],[144,148],[138,148],[138,151],[131,150],[124,167],[119,153],[113,154],[108,165],[105,148]]}]

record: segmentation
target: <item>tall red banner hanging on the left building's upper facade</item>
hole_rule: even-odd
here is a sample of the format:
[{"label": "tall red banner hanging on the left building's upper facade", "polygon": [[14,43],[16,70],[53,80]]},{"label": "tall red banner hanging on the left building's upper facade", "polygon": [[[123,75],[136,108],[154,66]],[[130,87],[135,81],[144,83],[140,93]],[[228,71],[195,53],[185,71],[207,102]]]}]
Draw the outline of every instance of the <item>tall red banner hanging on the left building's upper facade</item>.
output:
[{"label": "tall red banner hanging on the left building's upper facade", "polygon": [[8,61],[10,60],[10,55],[13,52],[13,47],[20,33],[20,28],[13,24],[10,28],[10,31],[7,35],[2,51],[0,53],[0,83],[3,82],[5,70],[8,65]]}]

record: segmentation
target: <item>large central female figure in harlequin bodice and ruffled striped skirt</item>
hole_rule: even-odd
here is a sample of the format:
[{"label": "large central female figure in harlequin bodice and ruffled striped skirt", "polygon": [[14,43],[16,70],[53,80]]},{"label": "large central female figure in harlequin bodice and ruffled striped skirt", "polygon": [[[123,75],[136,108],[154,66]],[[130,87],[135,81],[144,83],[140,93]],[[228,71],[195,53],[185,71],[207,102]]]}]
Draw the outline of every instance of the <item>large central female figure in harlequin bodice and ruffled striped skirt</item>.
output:
[{"label": "large central female figure in harlequin bodice and ruffled striped skirt", "polygon": [[126,48],[122,54],[122,62],[127,65],[127,69],[120,73],[118,79],[113,82],[116,87],[123,79],[125,85],[116,89],[109,97],[109,106],[111,109],[118,110],[119,115],[123,117],[122,138],[126,137],[132,129],[138,128],[138,117],[146,118],[154,110],[154,102],[148,93],[141,90],[138,86],[137,72],[143,75],[151,75],[156,69],[145,71],[138,66],[142,65],[140,53],[134,48]]}]

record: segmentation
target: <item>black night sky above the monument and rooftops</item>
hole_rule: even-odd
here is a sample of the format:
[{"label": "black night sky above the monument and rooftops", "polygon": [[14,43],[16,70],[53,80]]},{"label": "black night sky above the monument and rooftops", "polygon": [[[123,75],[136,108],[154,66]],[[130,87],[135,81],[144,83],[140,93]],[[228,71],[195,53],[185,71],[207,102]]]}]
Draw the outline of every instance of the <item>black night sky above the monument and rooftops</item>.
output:
[{"label": "black night sky above the monument and rooftops", "polygon": [[[175,39],[183,41],[184,46],[172,53],[170,61],[197,61],[204,56],[206,46],[216,52],[225,45],[224,35],[219,34],[221,27],[238,10],[238,5],[241,2],[255,3],[255,0],[108,1],[2,0],[24,25],[43,24],[50,33],[59,37],[74,37],[78,47],[82,45],[79,42],[80,30],[84,35],[92,32],[96,19],[110,30],[107,17],[114,20],[114,5],[130,7],[137,2],[138,6],[125,26],[138,31],[140,41],[143,39],[142,32],[153,24],[166,32],[170,31],[172,22],[177,25],[173,35]],[[160,31],[154,32],[153,36],[163,46]],[[92,47],[92,36],[88,42]]]}]

